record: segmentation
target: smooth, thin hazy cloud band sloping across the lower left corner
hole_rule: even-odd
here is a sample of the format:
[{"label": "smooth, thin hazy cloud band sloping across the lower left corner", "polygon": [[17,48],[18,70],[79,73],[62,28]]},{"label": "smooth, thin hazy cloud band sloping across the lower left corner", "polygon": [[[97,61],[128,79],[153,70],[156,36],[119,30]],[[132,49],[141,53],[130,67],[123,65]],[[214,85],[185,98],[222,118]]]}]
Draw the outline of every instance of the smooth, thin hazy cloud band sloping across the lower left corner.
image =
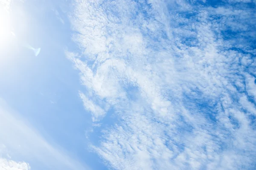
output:
[{"label": "smooth, thin hazy cloud band sloping across the lower left corner", "polygon": [[[57,145],[49,144],[28,122],[10,109],[3,99],[0,100],[0,117],[0,144],[7,148],[11,156],[47,169],[90,169],[71,158]],[[13,167],[11,169],[14,170],[29,169],[29,164],[12,161],[4,155],[0,158],[0,164],[3,167]]]}]

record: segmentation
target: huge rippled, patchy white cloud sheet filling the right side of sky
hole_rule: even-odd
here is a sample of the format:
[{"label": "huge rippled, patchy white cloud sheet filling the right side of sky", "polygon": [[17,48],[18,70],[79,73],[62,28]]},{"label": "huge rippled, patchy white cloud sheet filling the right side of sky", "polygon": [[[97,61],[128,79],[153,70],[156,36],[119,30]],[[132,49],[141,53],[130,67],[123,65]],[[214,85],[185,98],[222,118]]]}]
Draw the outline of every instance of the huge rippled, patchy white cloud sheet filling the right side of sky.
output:
[{"label": "huge rippled, patchy white cloud sheet filling the right side of sky", "polygon": [[254,12],[228,3],[75,1],[80,51],[67,57],[86,87],[85,107],[101,103],[118,117],[91,146],[109,167],[255,168]]}]

